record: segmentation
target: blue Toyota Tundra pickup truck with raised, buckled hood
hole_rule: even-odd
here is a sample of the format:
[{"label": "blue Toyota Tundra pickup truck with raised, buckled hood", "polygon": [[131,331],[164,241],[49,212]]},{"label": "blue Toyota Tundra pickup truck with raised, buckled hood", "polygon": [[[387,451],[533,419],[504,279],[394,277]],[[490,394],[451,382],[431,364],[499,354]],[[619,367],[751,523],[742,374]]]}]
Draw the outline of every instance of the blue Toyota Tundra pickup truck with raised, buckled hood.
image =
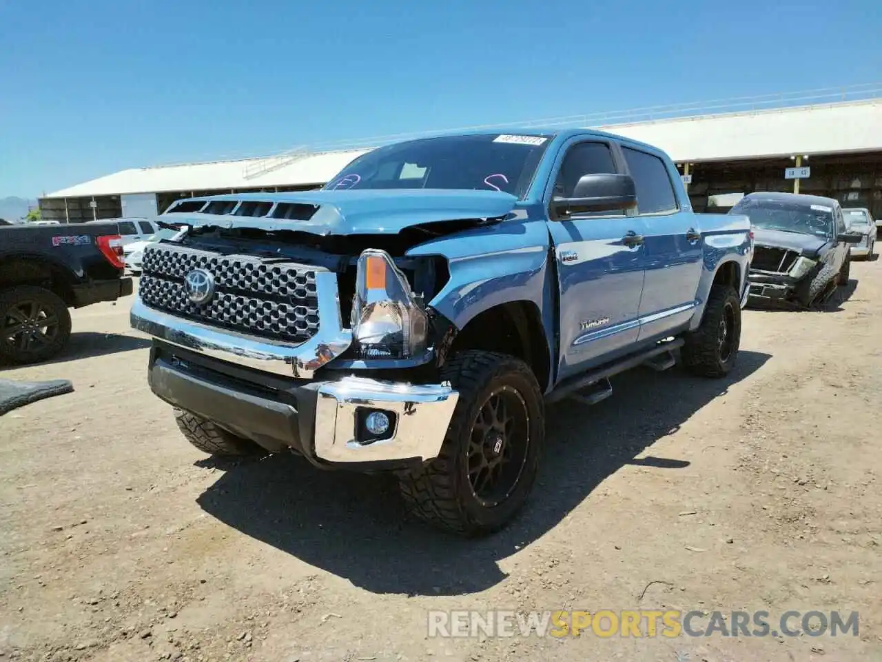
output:
[{"label": "blue Toyota Tundra pickup truck with raised, buckled hood", "polygon": [[667,154],[608,133],[409,140],[320,191],[164,215],[189,230],[144,252],[131,324],[186,439],[391,470],[462,535],[527,500],[546,403],[736,362],[750,222],[693,213]]}]

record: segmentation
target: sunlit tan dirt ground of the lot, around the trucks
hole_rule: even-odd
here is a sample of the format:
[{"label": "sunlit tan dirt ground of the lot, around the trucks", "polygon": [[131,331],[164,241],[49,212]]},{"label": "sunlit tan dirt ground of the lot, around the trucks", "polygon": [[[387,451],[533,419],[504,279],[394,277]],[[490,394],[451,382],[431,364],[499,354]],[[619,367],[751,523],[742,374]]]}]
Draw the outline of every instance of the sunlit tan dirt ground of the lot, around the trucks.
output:
[{"label": "sunlit tan dirt ground of the lot, around the trucks", "polygon": [[[76,390],[0,418],[0,660],[882,659],[882,264],[851,275],[826,312],[745,312],[727,379],[639,369],[550,408],[529,506],[477,541],[386,477],[206,458],[131,301],[74,312],[61,360],[2,373]],[[856,611],[859,635],[428,636],[459,609]]]}]

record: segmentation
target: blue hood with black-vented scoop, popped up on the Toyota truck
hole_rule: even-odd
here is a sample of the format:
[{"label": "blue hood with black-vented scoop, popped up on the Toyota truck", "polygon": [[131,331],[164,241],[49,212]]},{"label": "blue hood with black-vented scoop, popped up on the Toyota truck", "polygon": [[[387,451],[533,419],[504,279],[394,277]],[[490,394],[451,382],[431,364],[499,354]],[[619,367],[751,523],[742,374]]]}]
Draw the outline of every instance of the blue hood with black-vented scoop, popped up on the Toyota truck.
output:
[{"label": "blue hood with black-vented scoop, popped up on the Toyota truck", "polygon": [[395,234],[402,229],[442,221],[505,216],[518,199],[497,191],[349,190],[303,193],[248,193],[220,195],[208,200],[294,203],[304,207],[295,218],[228,214],[164,214],[176,222],[186,215],[193,227],[287,229],[315,235]]}]

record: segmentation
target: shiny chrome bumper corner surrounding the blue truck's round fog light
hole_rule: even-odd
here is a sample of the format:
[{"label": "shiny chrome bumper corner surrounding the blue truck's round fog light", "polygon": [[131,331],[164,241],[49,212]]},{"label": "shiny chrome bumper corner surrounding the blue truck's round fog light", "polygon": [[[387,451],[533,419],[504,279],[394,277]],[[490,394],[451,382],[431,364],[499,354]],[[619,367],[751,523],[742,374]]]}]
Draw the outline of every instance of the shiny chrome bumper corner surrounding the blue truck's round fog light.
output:
[{"label": "shiny chrome bumper corner surrounding the blue truck's round fog light", "polygon": [[[315,454],[333,464],[437,457],[460,394],[450,384],[411,385],[347,377],[318,387]],[[355,440],[359,410],[392,412],[392,435]]]}]

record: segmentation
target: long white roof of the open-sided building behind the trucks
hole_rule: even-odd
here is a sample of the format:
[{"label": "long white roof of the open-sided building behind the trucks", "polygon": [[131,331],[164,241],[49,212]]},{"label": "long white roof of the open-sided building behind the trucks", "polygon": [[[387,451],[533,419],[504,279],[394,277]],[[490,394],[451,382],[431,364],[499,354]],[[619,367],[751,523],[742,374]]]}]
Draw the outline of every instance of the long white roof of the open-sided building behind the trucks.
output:
[{"label": "long white roof of the open-sided building behind the trucks", "polygon": [[[882,99],[605,124],[599,128],[661,147],[676,162],[882,151]],[[325,184],[367,151],[310,153],[298,149],[265,158],[127,169],[52,192],[44,199],[308,187]]]}]

